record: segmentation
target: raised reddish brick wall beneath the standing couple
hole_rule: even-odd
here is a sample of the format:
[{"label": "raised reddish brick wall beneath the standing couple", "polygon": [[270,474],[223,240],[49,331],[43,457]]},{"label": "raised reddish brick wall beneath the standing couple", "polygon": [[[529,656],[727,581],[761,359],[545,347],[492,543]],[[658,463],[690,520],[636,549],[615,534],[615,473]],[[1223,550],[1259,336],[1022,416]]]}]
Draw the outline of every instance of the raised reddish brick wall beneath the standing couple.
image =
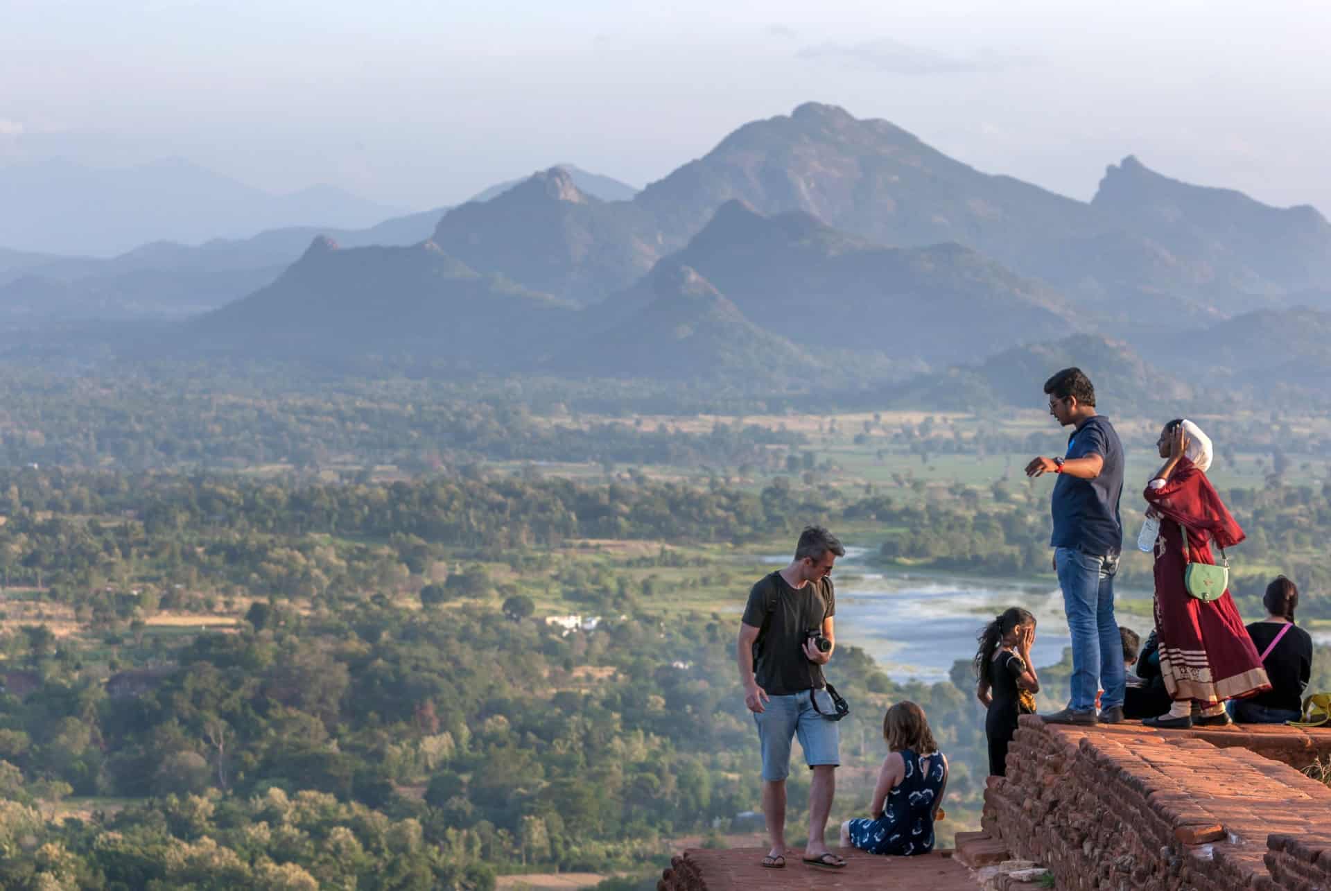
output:
[{"label": "raised reddish brick wall beneath the standing couple", "polygon": [[1327,748],[1322,730],[1024,717],[984,826],[1059,888],[1331,887],[1331,790],[1290,767]]}]

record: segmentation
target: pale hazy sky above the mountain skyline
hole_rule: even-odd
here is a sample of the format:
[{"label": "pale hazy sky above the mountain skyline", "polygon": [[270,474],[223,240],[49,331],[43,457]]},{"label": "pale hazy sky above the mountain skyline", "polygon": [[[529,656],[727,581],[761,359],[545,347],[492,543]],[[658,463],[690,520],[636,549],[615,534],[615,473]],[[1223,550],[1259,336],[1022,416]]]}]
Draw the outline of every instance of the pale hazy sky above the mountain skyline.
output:
[{"label": "pale hazy sky above the mountain skyline", "polygon": [[634,185],[807,100],[1089,198],[1123,154],[1331,212],[1331,4],[0,0],[0,164],[182,156],[403,208]]}]

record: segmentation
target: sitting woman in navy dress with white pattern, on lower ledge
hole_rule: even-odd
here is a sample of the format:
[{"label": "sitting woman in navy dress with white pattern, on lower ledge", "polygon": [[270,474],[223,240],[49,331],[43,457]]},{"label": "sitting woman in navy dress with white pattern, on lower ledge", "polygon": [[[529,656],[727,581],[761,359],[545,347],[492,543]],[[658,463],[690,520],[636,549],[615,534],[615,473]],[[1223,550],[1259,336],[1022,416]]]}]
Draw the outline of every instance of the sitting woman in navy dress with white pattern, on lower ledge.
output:
[{"label": "sitting woman in navy dress with white pattern, on lower ledge", "polygon": [[948,759],[938,751],[924,709],[898,702],[882,718],[888,756],[878,770],[870,816],[841,824],[841,847],[906,856],[933,850],[934,815],[942,815]]}]

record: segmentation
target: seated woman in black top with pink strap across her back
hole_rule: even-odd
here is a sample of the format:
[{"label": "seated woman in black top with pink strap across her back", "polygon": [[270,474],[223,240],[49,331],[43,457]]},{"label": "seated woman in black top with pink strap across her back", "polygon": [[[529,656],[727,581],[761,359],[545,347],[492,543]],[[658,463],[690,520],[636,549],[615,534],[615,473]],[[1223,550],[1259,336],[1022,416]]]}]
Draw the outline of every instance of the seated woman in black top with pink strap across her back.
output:
[{"label": "seated woman in black top with pink strap across her back", "polygon": [[[1234,702],[1234,719],[1247,725],[1283,725],[1303,713],[1303,690],[1312,677],[1312,638],[1294,625],[1299,589],[1283,575],[1266,586],[1262,598],[1270,615],[1247,626],[1271,689]],[[1271,645],[1275,646],[1271,646]]]}]

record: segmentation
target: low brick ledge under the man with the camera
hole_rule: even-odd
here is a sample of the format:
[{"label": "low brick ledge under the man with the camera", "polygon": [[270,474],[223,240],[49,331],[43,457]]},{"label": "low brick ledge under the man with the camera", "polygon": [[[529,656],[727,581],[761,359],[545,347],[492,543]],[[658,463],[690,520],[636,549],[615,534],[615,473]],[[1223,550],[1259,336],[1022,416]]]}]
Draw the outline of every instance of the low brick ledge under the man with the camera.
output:
[{"label": "low brick ledge under the man with the camera", "polygon": [[788,848],[784,870],[764,870],[765,848],[689,848],[671,859],[656,883],[658,891],[748,891],[783,888],[876,888],[880,891],[977,891],[974,876],[950,856],[934,851],[920,856],[873,856],[853,848],[835,848],[848,863],[825,870],[800,862],[801,851]]}]

